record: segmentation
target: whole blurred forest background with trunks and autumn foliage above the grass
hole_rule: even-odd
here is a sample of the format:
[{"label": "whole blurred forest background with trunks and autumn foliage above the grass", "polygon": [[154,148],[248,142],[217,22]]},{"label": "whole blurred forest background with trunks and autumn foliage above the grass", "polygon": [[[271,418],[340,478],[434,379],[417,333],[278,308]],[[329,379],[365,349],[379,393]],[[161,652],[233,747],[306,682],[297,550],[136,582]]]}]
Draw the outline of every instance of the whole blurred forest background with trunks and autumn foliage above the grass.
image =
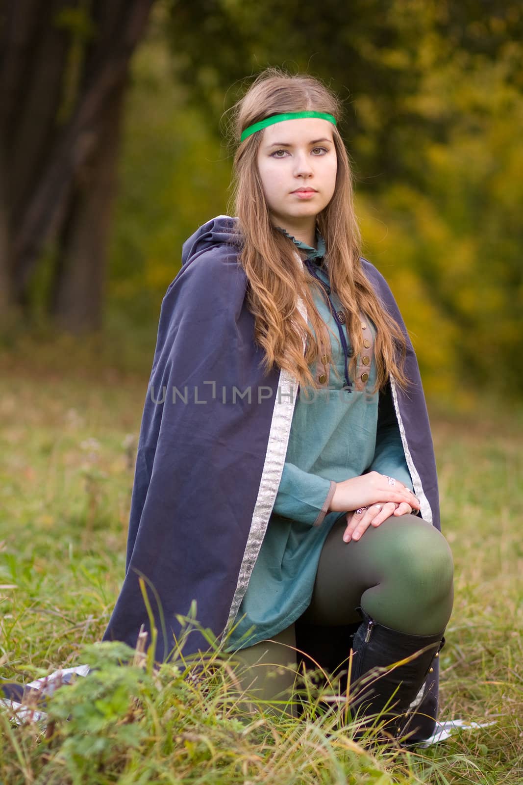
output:
[{"label": "whole blurred forest background with trunks and autumn foliage above the grass", "polygon": [[[521,400],[521,5],[11,5],[0,159],[8,355],[146,378],[183,240],[227,211],[227,109],[276,65],[318,75],[343,99],[364,253],[398,299],[433,405]],[[120,71],[104,92],[111,62]]]}]

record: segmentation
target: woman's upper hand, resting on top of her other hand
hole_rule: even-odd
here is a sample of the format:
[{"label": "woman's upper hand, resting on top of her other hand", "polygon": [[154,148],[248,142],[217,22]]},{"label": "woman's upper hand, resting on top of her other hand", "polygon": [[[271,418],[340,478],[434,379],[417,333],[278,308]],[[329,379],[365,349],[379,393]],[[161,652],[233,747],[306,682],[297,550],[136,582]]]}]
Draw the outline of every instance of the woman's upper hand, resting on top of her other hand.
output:
[{"label": "woman's upper hand, resting on top of her other hand", "polygon": [[[396,504],[405,502],[412,509],[419,509],[419,501],[408,487],[399,480],[379,472],[369,472],[336,483],[336,491],[329,509],[343,513],[344,510],[369,507],[376,502],[381,505],[388,502],[396,502]],[[374,509],[375,515],[378,512],[380,511],[377,508]]]}]

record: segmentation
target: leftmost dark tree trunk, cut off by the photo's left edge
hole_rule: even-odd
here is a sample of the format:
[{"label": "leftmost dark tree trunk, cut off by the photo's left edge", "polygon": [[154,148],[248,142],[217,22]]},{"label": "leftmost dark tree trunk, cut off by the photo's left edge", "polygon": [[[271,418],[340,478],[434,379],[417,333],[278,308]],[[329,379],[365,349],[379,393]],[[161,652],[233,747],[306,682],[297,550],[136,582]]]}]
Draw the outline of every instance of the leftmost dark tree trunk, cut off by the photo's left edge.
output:
[{"label": "leftmost dark tree trunk, cut off by the photo's left edge", "polygon": [[0,294],[2,310],[24,306],[16,292],[16,228],[35,192],[56,135],[68,49],[56,14],[66,0],[3,6],[0,28]]}]

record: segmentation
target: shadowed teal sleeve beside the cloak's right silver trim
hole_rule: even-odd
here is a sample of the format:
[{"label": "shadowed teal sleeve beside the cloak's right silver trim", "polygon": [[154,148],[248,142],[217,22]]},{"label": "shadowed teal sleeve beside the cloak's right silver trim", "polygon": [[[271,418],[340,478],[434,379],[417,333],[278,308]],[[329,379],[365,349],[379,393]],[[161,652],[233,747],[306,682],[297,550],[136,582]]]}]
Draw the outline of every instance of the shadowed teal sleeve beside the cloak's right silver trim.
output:
[{"label": "shadowed teal sleeve beside the cloak's right silver trim", "polygon": [[413,490],[412,479],[405,461],[403,444],[401,443],[398,420],[394,411],[394,403],[392,403],[390,394],[390,385],[387,385],[385,392],[380,392],[376,447],[372,465],[369,467],[369,472],[372,471],[394,477],[394,479],[405,484],[411,491]]}]

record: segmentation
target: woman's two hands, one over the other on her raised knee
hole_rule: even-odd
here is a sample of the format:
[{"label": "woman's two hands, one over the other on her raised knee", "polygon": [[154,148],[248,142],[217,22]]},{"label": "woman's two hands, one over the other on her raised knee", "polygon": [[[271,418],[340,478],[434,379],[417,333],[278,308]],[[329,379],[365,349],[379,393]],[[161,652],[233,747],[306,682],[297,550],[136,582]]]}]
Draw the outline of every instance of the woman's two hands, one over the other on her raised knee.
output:
[{"label": "woman's two hands, one over the other on her raised knee", "polygon": [[419,499],[399,480],[390,484],[389,477],[369,472],[336,483],[330,509],[348,509],[343,541],[358,540],[369,526],[380,526],[390,516],[408,515],[419,509]]}]

